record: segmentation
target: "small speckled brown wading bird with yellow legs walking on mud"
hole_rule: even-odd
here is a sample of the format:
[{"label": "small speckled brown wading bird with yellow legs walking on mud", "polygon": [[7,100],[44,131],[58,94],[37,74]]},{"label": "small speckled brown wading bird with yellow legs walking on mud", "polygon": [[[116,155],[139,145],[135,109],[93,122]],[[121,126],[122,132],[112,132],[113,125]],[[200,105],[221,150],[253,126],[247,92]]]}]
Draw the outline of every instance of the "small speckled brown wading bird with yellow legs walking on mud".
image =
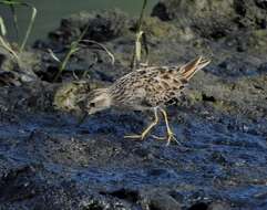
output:
[{"label": "small speckled brown wading bird with yellow legs walking on mud", "polygon": [[125,136],[125,138],[138,139],[144,139],[157,125],[160,111],[166,124],[167,145],[171,140],[177,141],[164,108],[170,101],[182,95],[188,81],[208,63],[209,60],[199,56],[185,65],[145,66],[135,70],[119,78],[107,88],[92,91],[86,98],[85,111],[90,115],[111,106],[134,111],[154,111],[154,122],[141,135]]}]

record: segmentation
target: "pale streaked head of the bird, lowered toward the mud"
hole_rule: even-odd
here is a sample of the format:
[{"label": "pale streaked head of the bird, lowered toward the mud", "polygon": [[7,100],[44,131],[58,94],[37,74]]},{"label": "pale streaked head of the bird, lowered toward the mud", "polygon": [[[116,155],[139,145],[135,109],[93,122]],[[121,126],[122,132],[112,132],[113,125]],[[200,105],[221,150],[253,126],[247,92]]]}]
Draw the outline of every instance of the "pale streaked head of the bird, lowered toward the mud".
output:
[{"label": "pale streaked head of the bird, lowered toward the mud", "polygon": [[111,96],[107,88],[96,88],[89,93],[84,109],[89,115],[106,109],[111,106]]}]

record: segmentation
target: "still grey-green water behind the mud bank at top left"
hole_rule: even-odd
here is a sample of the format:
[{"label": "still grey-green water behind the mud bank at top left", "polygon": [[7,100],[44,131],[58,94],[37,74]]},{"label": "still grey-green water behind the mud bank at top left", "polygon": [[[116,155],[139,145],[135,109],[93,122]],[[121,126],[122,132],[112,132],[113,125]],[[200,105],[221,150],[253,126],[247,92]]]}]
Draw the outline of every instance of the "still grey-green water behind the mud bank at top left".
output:
[{"label": "still grey-green water behind the mud bank at top left", "polygon": [[[125,1],[125,0],[28,0],[28,3],[34,6],[38,10],[35,24],[30,35],[30,43],[37,39],[45,38],[47,33],[59,25],[60,20],[63,17],[68,17],[71,13],[79,11],[93,11],[102,9],[121,9],[131,15],[138,15],[143,0]],[[146,13],[151,13],[152,7],[157,0],[150,0],[147,2]],[[23,36],[24,29],[28,25],[30,11],[29,9],[19,8],[17,9],[18,20],[20,27],[20,38]],[[6,25],[8,28],[9,38],[16,41],[16,33],[12,25],[12,15],[8,7],[0,6],[0,15],[3,17]]]}]

